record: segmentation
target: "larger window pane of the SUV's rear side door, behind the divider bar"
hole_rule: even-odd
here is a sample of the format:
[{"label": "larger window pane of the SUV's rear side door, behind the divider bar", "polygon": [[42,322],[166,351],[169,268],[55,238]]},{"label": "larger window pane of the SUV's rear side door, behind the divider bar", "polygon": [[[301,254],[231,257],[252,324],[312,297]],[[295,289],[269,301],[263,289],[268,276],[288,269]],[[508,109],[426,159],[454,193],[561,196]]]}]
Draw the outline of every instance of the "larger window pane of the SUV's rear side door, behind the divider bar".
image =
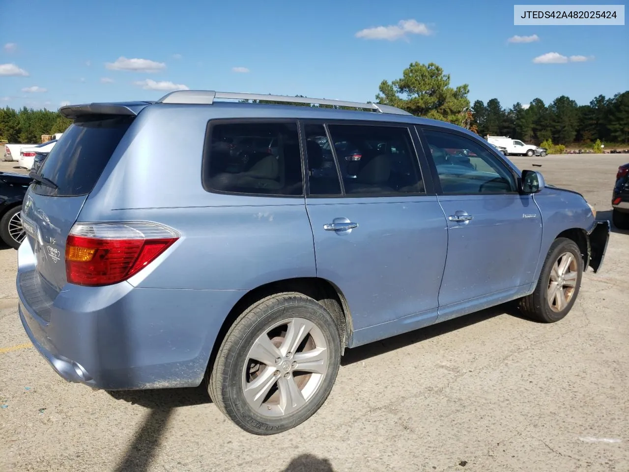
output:
[{"label": "larger window pane of the SUV's rear side door, behind the divider bar", "polygon": [[423,193],[408,128],[328,125],[345,194]]}]

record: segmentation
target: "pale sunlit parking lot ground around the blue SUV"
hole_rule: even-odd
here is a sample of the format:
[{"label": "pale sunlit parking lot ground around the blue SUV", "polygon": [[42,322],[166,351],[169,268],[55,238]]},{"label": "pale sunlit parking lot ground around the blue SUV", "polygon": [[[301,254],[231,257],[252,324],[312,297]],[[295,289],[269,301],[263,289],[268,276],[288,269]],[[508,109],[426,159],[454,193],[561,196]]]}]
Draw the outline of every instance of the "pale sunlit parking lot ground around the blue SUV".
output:
[{"label": "pale sunlit parking lot ground around the blue SUV", "polygon": [[[611,219],[629,155],[513,160]],[[231,424],[203,386],[66,383],[19,322],[16,261],[0,249],[1,471],[629,470],[627,232],[614,229],[603,270],[586,273],[565,320],[542,325],[500,306],[346,351],[323,408],[270,437]]]}]

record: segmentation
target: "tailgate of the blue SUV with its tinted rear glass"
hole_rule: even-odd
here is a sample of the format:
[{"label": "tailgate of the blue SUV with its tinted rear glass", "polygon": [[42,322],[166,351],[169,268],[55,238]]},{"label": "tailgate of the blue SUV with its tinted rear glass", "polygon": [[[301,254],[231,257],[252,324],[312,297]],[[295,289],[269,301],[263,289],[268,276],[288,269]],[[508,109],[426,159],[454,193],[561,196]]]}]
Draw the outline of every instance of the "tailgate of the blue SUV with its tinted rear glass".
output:
[{"label": "tailgate of the blue SUV with its tinted rear glass", "polygon": [[65,240],[132,116],[79,117],[38,171],[22,208],[22,223],[39,275],[58,293],[65,285]]}]

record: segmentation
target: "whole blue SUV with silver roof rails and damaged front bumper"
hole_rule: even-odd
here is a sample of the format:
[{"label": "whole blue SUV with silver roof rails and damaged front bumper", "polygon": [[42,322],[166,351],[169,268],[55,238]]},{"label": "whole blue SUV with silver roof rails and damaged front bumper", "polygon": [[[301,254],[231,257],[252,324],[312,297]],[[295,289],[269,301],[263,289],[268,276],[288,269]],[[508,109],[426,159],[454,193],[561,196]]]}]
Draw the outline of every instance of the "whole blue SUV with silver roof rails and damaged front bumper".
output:
[{"label": "whole blue SUV with silver roof rails and damaged front bumper", "polygon": [[313,415],[346,347],[514,300],[557,322],[603,262],[581,194],[391,106],[175,91],[61,113],[21,211],[26,333],[68,381],[205,381],[253,434]]}]

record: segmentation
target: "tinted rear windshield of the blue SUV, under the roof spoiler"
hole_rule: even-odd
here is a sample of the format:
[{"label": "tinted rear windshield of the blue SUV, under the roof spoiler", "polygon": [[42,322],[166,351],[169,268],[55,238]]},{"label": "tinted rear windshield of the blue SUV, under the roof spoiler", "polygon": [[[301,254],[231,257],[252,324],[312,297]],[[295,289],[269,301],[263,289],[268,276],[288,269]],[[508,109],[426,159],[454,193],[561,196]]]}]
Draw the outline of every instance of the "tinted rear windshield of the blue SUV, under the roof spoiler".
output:
[{"label": "tinted rear windshield of the blue SUV, under the roof spoiler", "polygon": [[33,191],[49,196],[90,193],[131,121],[130,116],[79,118],[61,135],[40,171],[40,176],[52,181],[57,188],[35,184]]}]

